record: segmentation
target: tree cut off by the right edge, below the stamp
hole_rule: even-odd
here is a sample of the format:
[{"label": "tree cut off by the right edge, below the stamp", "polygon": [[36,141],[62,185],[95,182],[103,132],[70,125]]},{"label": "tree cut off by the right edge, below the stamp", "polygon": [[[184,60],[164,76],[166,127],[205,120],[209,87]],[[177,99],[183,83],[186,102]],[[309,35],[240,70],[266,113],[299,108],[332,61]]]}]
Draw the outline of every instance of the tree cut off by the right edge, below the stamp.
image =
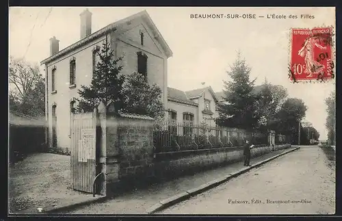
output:
[{"label": "tree cut off by the right edge, below the stamp", "polygon": [[331,92],[330,96],[326,99],[326,129],[328,129],[328,141],[335,145],[336,142],[336,94]]}]

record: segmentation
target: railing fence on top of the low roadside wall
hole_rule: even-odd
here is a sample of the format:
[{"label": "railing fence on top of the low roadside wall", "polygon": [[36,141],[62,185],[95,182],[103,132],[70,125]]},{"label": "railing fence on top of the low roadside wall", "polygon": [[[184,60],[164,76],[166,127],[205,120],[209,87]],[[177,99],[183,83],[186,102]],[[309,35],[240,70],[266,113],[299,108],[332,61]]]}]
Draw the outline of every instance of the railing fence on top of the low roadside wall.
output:
[{"label": "railing fence on top of the low roadside wall", "polygon": [[173,122],[159,123],[153,129],[153,142],[157,153],[242,146],[246,139],[252,140],[252,143],[258,146],[268,144],[267,133],[243,129]]}]

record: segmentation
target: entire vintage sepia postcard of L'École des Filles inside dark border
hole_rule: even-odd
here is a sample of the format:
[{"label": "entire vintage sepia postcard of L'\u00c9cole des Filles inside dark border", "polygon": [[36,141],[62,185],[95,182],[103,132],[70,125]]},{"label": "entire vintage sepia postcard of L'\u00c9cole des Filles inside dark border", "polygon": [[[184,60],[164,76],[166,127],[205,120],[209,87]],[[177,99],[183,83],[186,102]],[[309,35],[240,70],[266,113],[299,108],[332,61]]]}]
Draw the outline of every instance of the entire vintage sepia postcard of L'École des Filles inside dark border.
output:
[{"label": "entire vintage sepia postcard of L'\u00c9cole des Filles inside dark border", "polygon": [[335,8],[9,13],[10,216],[337,212]]}]

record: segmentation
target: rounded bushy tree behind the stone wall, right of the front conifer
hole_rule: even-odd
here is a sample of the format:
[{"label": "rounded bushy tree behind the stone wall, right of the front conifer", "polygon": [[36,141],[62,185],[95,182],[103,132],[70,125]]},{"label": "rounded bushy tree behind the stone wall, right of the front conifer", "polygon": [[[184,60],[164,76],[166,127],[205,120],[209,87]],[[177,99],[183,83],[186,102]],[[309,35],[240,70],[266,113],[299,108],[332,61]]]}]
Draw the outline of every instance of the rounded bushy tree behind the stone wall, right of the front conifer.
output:
[{"label": "rounded bushy tree behind the stone wall, right of the front conifer", "polygon": [[127,76],[122,95],[125,103],[122,111],[157,119],[163,118],[164,107],[161,102],[161,89],[155,83],[149,85],[140,73],[132,73]]}]

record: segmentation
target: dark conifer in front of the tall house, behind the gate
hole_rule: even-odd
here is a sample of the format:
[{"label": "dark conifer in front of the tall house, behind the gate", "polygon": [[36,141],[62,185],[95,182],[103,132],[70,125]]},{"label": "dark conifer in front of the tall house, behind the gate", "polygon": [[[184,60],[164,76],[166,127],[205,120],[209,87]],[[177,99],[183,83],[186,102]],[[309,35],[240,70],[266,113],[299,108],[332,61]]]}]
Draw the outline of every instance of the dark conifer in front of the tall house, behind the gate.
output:
[{"label": "dark conifer in front of the tall house, behind the gate", "polygon": [[105,105],[113,101],[114,108],[120,110],[124,105],[122,95],[124,75],[120,75],[122,66],[118,66],[122,57],[114,60],[114,51],[107,42],[103,43],[101,51],[98,51],[96,55],[100,60],[96,64],[90,86],[81,86],[78,90],[80,99],[78,99],[77,111],[92,112],[101,101]]}]

